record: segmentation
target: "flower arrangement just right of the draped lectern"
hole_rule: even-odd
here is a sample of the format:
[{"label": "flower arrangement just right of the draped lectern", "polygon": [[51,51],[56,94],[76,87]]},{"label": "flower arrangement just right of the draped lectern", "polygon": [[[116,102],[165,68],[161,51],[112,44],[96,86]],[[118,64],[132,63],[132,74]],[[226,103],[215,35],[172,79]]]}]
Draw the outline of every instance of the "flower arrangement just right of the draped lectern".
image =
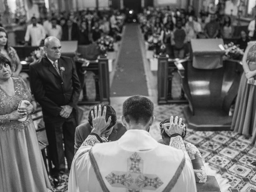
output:
[{"label": "flower arrangement just right of the draped lectern", "polygon": [[239,45],[235,45],[233,42],[224,44],[225,56],[234,60],[241,60],[244,55],[244,50],[239,48]]}]

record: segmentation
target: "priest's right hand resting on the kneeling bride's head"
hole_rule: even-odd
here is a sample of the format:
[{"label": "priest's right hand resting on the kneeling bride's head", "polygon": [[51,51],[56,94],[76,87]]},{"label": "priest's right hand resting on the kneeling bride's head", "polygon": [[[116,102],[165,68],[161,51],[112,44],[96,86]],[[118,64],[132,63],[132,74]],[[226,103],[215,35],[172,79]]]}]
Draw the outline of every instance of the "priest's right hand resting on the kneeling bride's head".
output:
[{"label": "priest's right hand resting on the kneeling bride's head", "polygon": [[164,128],[166,134],[168,136],[171,136],[173,134],[180,134],[182,135],[182,132],[185,128],[185,124],[182,125],[182,118],[178,121],[178,116],[175,117],[173,122],[173,116],[170,117],[170,126],[169,129],[166,127],[166,125],[162,124],[162,127]]}]

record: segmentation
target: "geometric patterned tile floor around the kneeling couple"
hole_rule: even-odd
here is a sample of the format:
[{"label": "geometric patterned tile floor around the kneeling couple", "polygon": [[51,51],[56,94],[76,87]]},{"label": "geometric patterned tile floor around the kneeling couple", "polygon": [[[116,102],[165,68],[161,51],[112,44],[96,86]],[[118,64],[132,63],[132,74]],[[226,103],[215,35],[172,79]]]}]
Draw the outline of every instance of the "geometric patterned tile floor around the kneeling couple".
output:
[{"label": "geometric patterned tile floor around the kneeling couple", "polygon": [[[92,75],[89,75],[93,78]],[[174,80],[174,92],[180,92],[179,80]],[[94,97],[94,94],[91,95]],[[150,97],[149,97],[150,98]],[[122,115],[122,103],[126,97],[110,98],[113,108],[116,110],[118,120]],[[156,98],[150,98],[154,103],[154,115],[156,121],[150,128],[150,134],[156,140],[160,139],[159,123],[169,118],[170,115],[179,116],[184,119],[182,112],[186,104],[156,104]],[[82,122],[87,122],[88,112],[92,106],[80,106],[83,110]],[[186,120],[184,119],[185,123]],[[81,122],[81,123],[82,123]],[[223,178],[228,179],[231,185],[230,192],[256,192],[256,166],[252,162],[256,162],[256,147],[250,145],[250,137],[245,137],[232,131],[217,132],[201,132],[187,129],[185,140],[195,144],[202,157],[210,167],[217,170]],[[66,192],[68,177],[62,177],[62,184],[58,188],[53,188],[54,192]]]}]

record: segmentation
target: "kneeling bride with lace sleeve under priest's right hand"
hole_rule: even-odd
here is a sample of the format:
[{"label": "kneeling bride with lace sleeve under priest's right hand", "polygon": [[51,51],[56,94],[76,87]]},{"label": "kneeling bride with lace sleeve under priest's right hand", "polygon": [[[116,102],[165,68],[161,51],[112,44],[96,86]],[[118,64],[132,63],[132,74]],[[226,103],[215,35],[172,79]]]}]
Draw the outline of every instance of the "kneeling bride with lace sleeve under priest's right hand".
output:
[{"label": "kneeling bride with lace sleeve under priest's right hand", "polygon": [[[180,121],[182,121],[181,118],[180,118]],[[183,123],[181,123],[180,126],[183,126]],[[168,136],[168,134],[165,132],[165,128],[169,129],[169,127],[170,127],[170,119],[166,119],[160,123],[162,139],[158,141],[159,143],[169,145],[170,136]],[[186,136],[186,126],[184,126],[184,130],[181,135],[182,139],[184,139],[185,136]],[[207,176],[206,176],[206,171],[204,168],[204,163],[203,163],[200,151],[193,144],[186,142],[184,140],[183,142],[186,147],[186,152],[188,153],[188,156],[190,157],[193,165],[196,182],[205,183],[207,180]]]}]

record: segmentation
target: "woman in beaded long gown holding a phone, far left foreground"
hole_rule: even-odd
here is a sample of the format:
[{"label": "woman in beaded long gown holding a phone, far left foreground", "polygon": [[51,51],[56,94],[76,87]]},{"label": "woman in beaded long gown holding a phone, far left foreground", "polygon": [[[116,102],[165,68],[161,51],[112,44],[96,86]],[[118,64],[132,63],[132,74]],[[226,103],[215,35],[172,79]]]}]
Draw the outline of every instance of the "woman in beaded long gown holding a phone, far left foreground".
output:
[{"label": "woman in beaded long gown holding a phone, far left foreground", "polygon": [[[31,118],[36,103],[11,74],[10,61],[0,56],[0,192],[46,192],[50,182]],[[22,100],[26,107],[18,108]]]}]

